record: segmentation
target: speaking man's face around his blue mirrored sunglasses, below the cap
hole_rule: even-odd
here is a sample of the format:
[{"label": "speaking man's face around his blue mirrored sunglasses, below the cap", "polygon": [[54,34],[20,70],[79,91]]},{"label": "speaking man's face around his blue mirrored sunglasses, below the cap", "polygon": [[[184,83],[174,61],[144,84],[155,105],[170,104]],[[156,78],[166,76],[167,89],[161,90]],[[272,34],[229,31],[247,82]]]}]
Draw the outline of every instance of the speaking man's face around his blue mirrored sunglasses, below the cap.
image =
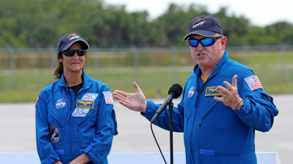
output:
[{"label": "speaking man's face around his blue mirrored sunglasses, below the cap", "polygon": [[[216,34],[213,37],[221,36]],[[204,39],[208,38],[198,34],[191,34],[191,39]],[[220,62],[222,56],[224,55],[224,50],[226,46],[227,38],[223,37],[218,39],[211,46],[202,46],[199,42],[197,47],[190,46],[191,57],[194,62],[196,62],[201,69],[214,69]]]}]

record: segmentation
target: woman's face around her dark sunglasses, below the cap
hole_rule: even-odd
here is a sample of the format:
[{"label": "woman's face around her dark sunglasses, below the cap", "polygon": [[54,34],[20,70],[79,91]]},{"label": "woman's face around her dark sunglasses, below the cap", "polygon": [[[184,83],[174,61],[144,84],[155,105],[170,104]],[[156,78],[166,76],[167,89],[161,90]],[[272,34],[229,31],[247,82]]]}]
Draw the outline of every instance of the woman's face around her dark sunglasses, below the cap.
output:
[{"label": "woman's face around her dark sunglasses, below the cap", "polygon": [[[69,50],[80,50],[82,49],[79,42],[73,43]],[[83,66],[85,65],[85,55],[78,56],[75,52],[73,56],[65,56],[62,54],[62,58],[59,58],[59,61],[63,63],[64,73],[70,72],[79,72],[82,71]]]}]

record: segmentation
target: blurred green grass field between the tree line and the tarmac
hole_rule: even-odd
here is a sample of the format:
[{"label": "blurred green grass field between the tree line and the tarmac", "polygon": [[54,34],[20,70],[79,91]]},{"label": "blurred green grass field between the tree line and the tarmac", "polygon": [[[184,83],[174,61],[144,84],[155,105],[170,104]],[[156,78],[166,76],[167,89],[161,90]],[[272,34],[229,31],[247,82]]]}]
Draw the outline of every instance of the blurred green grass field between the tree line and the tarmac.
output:
[{"label": "blurred green grass field between the tree line and the tarmac", "polygon": [[[231,52],[229,57],[254,70],[269,94],[288,94],[293,93],[292,54]],[[0,54],[0,102],[35,102],[39,91],[55,81],[50,55],[15,55],[13,71],[9,70],[8,57]],[[89,53],[85,71],[108,84],[111,91],[135,92],[132,82],[136,81],[147,98],[155,98],[167,97],[174,83],[184,87],[194,66],[188,53],[178,53],[175,58],[170,53],[139,54],[137,59],[139,66],[133,64],[133,54],[99,54],[97,65],[97,58]]]}]

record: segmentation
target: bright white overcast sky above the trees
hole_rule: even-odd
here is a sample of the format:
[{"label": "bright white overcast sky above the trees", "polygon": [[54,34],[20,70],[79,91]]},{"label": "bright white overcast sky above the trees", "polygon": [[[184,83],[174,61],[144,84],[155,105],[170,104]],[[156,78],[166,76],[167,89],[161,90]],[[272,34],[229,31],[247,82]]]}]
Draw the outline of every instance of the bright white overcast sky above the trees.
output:
[{"label": "bright white overcast sky above the trees", "polygon": [[124,4],[126,10],[130,12],[147,10],[151,18],[163,14],[171,2],[180,6],[185,4],[189,6],[193,2],[207,6],[210,13],[216,13],[220,6],[228,7],[228,14],[243,15],[256,26],[266,26],[279,21],[293,24],[293,2],[288,0],[104,0],[104,2],[113,5]]}]

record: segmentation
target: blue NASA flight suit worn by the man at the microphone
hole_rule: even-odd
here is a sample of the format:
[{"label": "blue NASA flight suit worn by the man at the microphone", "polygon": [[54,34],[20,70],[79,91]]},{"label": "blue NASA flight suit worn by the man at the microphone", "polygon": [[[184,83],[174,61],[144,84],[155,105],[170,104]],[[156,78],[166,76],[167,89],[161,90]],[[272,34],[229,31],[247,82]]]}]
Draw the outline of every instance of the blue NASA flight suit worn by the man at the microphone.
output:
[{"label": "blue NASA flight suit worn by the man at the microphone", "polygon": [[[226,88],[223,82],[232,84],[235,74],[238,94],[245,102],[239,111],[213,99],[221,97],[215,91],[217,86]],[[148,100],[146,114],[142,115],[151,120],[160,105]],[[256,164],[254,130],[269,131],[279,113],[254,72],[228,58],[227,51],[205,83],[199,66],[194,67],[177,106],[173,131],[184,132],[187,164]],[[169,130],[168,109],[154,124]]]}]

